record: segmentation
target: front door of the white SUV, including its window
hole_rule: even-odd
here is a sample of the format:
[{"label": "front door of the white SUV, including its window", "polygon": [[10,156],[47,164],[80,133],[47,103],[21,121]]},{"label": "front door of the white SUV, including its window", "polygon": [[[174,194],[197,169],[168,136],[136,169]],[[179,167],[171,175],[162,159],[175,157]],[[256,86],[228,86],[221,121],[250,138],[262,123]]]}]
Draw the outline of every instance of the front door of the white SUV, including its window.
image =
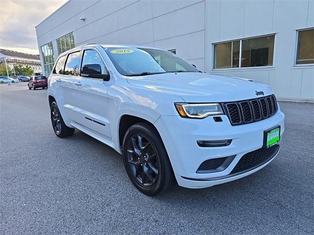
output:
[{"label": "front door of the white SUV, including its window", "polygon": [[[108,74],[101,53],[96,48],[85,48],[81,52],[83,76],[74,78],[74,91],[71,92],[71,105],[76,115],[74,121],[86,129],[111,140],[108,87],[101,74]],[[84,74],[88,70],[88,75]],[[88,76],[88,77],[85,77]],[[97,78],[98,77],[98,78]]]}]

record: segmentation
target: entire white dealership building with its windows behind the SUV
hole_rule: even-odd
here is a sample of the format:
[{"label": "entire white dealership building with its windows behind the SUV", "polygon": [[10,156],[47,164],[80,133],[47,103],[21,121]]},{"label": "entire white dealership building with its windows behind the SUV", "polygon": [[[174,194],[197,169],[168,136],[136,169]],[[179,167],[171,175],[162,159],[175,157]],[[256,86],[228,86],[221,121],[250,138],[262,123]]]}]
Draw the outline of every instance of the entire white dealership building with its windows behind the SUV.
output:
[{"label": "entire white dealership building with its windows behind the SUV", "polygon": [[314,101],[314,0],[69,0],[36,26],[44,74],[86,43],[159,47]]}]

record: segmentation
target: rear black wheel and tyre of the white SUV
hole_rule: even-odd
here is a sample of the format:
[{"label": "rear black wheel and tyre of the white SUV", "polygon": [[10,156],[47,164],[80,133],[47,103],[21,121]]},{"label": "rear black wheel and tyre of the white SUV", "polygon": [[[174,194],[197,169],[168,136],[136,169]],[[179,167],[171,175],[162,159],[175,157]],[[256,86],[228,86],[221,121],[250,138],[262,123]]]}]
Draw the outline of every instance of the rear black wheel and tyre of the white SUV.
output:
[{"label": "rear black wheel and tyre of the white SUV", "polygon": [[65,125],[56,102],[52,102],[50,113],[53,131],[57,137],[69,137],[74,134],[75,128],[70,128]]}]

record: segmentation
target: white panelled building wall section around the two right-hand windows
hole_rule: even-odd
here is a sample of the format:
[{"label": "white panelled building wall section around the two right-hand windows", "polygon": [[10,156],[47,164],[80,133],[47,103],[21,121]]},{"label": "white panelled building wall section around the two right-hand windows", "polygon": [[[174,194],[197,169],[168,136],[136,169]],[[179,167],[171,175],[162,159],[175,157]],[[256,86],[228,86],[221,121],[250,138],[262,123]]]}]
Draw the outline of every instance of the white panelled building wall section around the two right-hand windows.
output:
[{"label": "white panelled building wall section around the two right-hand windows", "polygon": [[212,71],[212,43],[276,33],[274,65],[214,73],[269,84],[278,98],[314,99],[314,67],[295,67],[296,30],[313,27],[313,0],[207,0],[206,70]]}]

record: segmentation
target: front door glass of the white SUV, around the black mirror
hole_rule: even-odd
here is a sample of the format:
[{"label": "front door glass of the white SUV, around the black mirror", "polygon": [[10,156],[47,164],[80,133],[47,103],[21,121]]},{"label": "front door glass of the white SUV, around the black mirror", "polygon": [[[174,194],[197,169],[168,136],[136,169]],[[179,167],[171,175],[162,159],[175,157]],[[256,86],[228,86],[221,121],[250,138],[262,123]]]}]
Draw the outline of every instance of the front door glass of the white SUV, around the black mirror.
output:
[{"label": "front door glass of the white SUV, around the black mirror", "polygon": [[95,65],[95,64],[99,64],[101,70],[99,71],[99,69],[96,69],[95,66],[94,67],[92,66],[95,70],[95,73],[89,72],[89,74],[105,74],[106,73],[105,64],[103,60],[100,58],[100,55],[98,54],[98,52],[95,50],[85,50],[84,55],[83,55],[83,60],[82,60],[82,70],[84,70],[84,68],[91,67],[88,65]]}]

